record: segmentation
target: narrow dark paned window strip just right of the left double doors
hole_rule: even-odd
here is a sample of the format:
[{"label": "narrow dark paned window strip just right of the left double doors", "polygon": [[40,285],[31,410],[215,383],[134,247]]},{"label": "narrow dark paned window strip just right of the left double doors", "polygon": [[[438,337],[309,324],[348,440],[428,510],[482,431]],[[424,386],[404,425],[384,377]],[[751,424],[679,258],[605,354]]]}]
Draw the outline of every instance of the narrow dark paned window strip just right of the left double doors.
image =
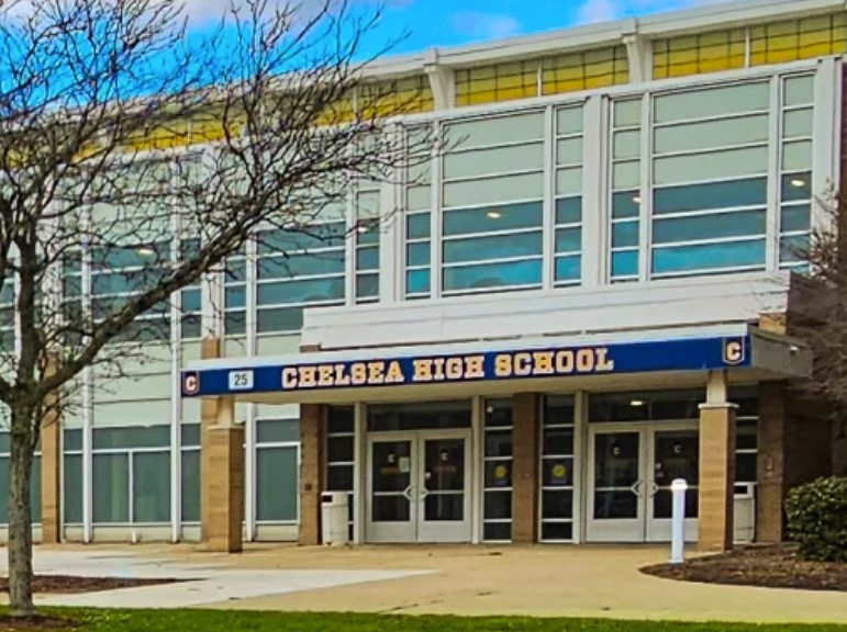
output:
[{"label": "narrow dark paned window strip just right of the left double doors", "polygon": [[512,399],[484,403],[484,465],[482,490],[482,540],[512,540]]}]

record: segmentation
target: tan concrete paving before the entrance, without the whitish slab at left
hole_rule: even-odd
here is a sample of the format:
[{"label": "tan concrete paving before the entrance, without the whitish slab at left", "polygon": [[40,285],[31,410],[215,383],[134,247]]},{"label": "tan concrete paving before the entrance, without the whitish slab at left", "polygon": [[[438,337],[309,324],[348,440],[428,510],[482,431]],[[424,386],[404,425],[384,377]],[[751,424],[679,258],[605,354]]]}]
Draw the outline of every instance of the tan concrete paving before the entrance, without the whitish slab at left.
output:
[{"label": "tan concrete paving before the entrance, without the whitish slab at left", "polygon": [[364,546],[249,552],[242,567],[417,568],[392,582],[266,596],[216,608],[847,623],[847,594],[716,586],[638,572],[655,546]]}]

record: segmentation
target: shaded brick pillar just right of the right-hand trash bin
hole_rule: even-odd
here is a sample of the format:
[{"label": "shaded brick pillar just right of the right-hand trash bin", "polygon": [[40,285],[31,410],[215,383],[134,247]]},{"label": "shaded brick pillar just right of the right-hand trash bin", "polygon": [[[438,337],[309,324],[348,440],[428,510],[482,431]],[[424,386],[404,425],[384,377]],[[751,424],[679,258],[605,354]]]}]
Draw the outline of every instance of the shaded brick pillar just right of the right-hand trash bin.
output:
[{"label": "shaded brick pillar just right of the right-hand trash bin", "polygon": [[756,466],[756,541],[781,542],[785,481],[785,388],[759,385],[759,451]]}]

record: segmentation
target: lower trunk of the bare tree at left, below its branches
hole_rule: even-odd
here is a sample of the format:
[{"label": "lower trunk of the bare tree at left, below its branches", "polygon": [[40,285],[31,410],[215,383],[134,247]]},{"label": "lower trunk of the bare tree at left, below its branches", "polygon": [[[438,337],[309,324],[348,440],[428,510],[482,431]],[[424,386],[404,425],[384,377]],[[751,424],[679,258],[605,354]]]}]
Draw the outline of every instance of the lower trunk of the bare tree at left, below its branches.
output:
[{"label": "lower trunk of the bare tree at left, below its branches", "polygon": [[32,429],[31,409],[12,411],[9,461],[9,613],[12,617],[29,617],[35,611],[32,602],[30,501],[33,462]]}]

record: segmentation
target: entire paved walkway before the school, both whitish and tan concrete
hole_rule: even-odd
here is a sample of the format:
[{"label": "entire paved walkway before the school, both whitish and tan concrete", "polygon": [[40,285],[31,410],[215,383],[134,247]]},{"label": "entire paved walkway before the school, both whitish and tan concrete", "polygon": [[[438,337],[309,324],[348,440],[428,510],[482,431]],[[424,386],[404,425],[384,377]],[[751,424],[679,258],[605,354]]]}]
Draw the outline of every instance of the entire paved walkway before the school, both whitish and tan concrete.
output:
[{"label": "entire paved walkway before the school, both whitish and tan concrete", "polygon": [[847,595],[701,585],[638,572],[653,546],[189,546],[40,550],[40,572],[191,577],[42,603],[847,623]]}]

